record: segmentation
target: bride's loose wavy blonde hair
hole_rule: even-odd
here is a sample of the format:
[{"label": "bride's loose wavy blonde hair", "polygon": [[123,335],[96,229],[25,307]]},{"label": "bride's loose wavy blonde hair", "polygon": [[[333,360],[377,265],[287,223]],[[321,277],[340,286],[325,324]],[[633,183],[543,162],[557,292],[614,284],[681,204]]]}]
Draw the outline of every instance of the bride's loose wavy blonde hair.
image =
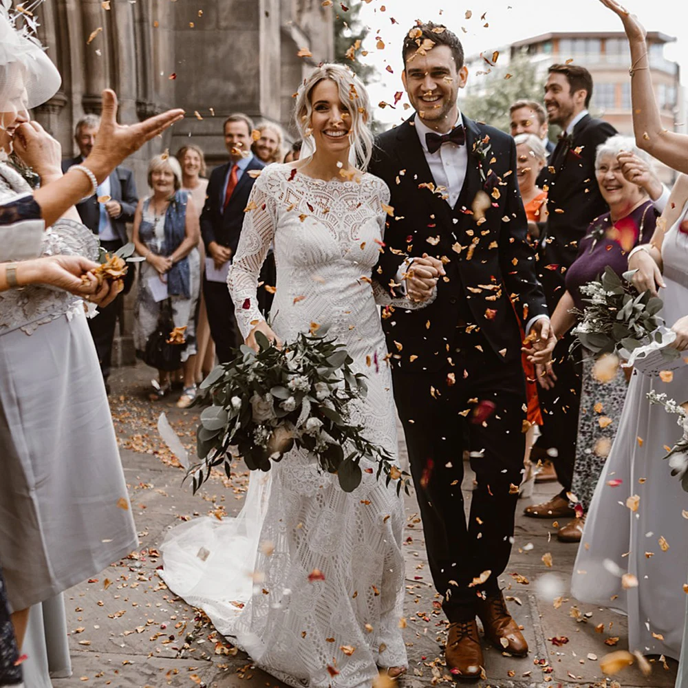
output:
[{"label": "bride's loose wavy blonde hair", "polygon": [[348,67],[326,63],[316,67],[303,80],[297,93],[297,103],[294,108],[294,116],[301,132],[301,138],[303,138],[305,147],[312,154],[315,150],[315,142],[310,127],[310,118],[313,112],[310,94],[314,87],[325,79],[334,81],[341,102],[349,109],[351,117],[349,142],[356,155],[354,164],[365,172],[373,153],[373,134],[367,124],[370,116],[370,100],[363,82]]}]

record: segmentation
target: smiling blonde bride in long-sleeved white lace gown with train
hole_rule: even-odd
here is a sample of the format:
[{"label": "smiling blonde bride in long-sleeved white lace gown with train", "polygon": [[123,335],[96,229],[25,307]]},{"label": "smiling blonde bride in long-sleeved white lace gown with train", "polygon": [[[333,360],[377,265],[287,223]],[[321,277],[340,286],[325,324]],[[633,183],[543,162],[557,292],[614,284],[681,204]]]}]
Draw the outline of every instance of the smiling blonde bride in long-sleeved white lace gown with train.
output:
[{"label": "smiling blonde bride in long-sleeved white lace gown with train", "polygon": [[[396,455],[376,304],[427,303],[439,261],[415,259],[408,298],[391,298],[371,280],[393,211],[385,182],[365,172],[372,134],[361,81],[341,65],[316,68],[299,88],[296,114],[305,155],[268,166],[256,180],[229,272],[239,328],[255,347],[257,331],[280,345],[313,323],[328,325],[368,378],[367,398],[352,422],[365,424],[369,438]],[[256,292],[271,244],[277,294],[268,325]],[[289,685],[363,688],[377,667],[399,676],[407,665],[400,630],[402,500],[394,482],[387,487],[363,475],[356,491],[344,493],[336,475],[291,451],[268,473],[252,473],[238,517],[175,528],[163,544],[162,577]]]}]

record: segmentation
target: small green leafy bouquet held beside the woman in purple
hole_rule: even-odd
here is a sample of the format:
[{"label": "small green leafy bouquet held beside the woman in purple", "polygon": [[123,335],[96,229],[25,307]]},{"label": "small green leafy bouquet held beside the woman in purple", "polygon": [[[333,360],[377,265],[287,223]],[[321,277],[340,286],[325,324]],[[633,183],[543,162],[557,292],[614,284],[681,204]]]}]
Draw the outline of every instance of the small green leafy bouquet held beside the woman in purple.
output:
[{"label": "small green leafy bouquet held beside the woman in purple", "polygon": [[[596,356],[625,349],[632,352],[639,346],[649,344],[653,338],[661,341],[656,332],[664,324],[658,316],[663,302],[650,292],[638,294],[626,272],[623,279],[607,266],[601,279],[581,287],[588,299],[585,310],[574,310],[581,316],[573,334],[577,341]],[[675,349],[662,350],[667,358],[678,355]]]}]

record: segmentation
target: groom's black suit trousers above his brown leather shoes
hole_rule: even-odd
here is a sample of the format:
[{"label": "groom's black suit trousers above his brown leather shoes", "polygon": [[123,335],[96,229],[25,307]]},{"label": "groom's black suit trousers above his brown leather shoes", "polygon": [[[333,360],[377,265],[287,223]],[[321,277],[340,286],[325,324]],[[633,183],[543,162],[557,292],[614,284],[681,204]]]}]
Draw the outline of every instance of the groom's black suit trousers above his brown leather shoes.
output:
[{"label": "groom's black suit trousers above his brown leather shoes", "polygon": [[[394,371],[394,397],[430,570],[450,622],[475,618],[477,594],[499,590],[497,577],[513,543],[525,449],[526,392],[519,350],[510,361],[499,361],[475,333],[460,336],[456,348],[453,367],[433,373]],[[472,409],[483,400],[494,402],[495,412],[482,423],[471,422]],[[468,523],[461,491],[464,451],[471,452],[477,479]],[[491,574],[485,583],[471,585],[487,571]]]}]

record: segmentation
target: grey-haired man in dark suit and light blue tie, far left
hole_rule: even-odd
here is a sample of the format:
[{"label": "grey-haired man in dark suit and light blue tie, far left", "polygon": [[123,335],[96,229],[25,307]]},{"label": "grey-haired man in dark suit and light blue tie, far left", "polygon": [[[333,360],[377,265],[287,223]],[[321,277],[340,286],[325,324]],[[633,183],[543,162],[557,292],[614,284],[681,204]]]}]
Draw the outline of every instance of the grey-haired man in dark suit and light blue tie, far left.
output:
[{"label": "grey-haired man in dark suit and light blue tie, far left", "polygon": [[[100,117],[85,115],[77,123],[74,140],[79,149],[76,158],[63,160],[62,170],[66,172],[72,165],[83,162],[91,152],[100,127]],[[100,200],[99,200],[100,199]],[[109,177],[98,186],[98,191],[90,198],[77,204],[81,222],[85,224],[100,239],[100,246],[107,252],[115,252],[122,248],[127,241],[127,222],[133,222],[138,197],[136,183],[131,170],[118,166]],[[96,345],[100,372],[103,373],[105,389],[109,394],[107,378],[110,375],[112,361],[112,341],[115,336],[117,318],[122,312],[123,294],[127,294],[133,283],[134,270],[129,266],[125,277],[125,288],[110,305],[99,308],[95,318],[89,318],[88,324],[91,336]]]}]

